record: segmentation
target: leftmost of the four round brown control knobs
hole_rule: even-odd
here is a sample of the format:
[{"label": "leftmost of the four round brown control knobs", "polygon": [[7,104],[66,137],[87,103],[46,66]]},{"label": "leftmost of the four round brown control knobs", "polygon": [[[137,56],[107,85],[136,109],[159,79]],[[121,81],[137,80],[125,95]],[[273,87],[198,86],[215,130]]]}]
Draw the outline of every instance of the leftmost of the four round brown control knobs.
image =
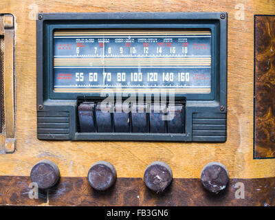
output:
[{"label": "leftmost of the four round brown control knobs", "polygon": [[54,162],[44,159],[32,167],[30,178],[32,182],[37,183],[39,188],[45,190],[57,183],[60,178],[60,172]]}]

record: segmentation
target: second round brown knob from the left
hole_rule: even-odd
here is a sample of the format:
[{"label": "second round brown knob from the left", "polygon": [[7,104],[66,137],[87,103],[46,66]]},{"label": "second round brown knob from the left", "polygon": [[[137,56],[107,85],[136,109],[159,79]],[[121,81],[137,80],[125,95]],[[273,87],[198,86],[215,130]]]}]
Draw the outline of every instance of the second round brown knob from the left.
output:
[{"label": "second round brown knob from the left", "polygon": [[89,168],[88,181],[95,190],[107,190],[116,180],[115,167],[106,161],[96,162]]}]

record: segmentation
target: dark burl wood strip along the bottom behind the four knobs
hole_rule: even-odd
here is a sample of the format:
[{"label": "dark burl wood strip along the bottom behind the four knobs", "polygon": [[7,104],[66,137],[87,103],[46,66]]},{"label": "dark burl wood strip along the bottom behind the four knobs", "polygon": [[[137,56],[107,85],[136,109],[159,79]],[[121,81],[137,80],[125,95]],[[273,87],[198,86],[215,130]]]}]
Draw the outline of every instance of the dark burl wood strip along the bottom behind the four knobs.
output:
[{"label": "dark burl wood strip along the bottom behind the four knobs", "polygon": [[[141,178],[118,178],[107,191],[96,191],[86,177],[61,177],[48,191],[30,199],[30,177],[0,176],[0,204],[27,206],[275,206],[275,179],[230,179],[219,195],[206,191],[199,179],[173,179],[158,194]],[[244,187],[241,195],[240,186]],[[239,191],[238,191],[239,190]],[[243,197],[241,197],[243,196]],[[31,197],[32,198],[32,197]]]}]

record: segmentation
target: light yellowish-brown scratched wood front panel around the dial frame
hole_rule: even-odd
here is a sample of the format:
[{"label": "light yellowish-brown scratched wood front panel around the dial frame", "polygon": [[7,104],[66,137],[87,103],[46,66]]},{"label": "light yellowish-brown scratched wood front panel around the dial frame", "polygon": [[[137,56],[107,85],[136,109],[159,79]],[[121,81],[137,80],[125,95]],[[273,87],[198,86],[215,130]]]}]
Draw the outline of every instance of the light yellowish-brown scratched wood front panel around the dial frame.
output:
[{"label": "light yellowish-brown scratched wood front panel around the dial frame", "polygon": [[[217,161],[230,177],[275,176],[275,159],[253,159],[254,14],[275,13],[273,0],[0,1],[15,21],[16,151],[0,155],[0,175],[28,176],[41,159],[56,162],[63,177],[85,177],[98,160],[118,177],[142,177],[153,161],[177,178],[198,178]],[[228,140],[221,144],[168,142],[62,142],[36,138],[36,12],[228,12]]]}]

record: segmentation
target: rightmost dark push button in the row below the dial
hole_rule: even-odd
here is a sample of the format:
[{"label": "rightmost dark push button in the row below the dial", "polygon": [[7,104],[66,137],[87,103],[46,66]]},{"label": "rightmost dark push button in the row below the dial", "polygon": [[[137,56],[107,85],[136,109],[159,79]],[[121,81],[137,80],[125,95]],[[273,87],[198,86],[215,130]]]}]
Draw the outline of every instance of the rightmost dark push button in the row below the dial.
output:
[{"label": "rightmost dark push button in the row below the dial", "polygon": [[182,104],[168,104],[168,133],[184,133],[184,109]]}]

